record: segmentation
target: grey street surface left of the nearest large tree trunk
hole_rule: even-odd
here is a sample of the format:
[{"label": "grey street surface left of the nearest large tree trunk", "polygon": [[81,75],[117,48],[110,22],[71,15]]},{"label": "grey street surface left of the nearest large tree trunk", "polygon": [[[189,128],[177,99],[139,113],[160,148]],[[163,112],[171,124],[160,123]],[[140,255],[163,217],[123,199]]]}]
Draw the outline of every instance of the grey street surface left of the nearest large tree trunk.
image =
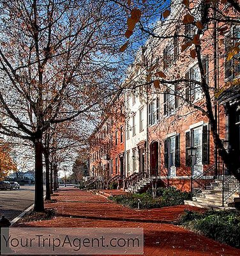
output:
[{"label": "grey street surface left of the nearest large tree trunk", "polygon": [[13,220],[34,203],[34,186],[21,186],[11,191],[0,190],[0,217],[4,214]]}]

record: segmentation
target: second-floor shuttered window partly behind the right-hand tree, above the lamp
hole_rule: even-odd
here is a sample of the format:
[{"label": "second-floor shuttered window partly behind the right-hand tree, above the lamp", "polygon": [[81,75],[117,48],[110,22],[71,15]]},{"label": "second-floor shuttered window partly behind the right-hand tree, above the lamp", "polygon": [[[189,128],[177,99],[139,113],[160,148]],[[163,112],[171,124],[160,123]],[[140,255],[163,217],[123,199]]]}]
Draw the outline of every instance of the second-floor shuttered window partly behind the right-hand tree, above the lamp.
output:
[{"label": "second-floor shuttered window partly behind the right-hand tree, above the lamp", "polygon": [[[204,73],[206,74],[206,79],[208,79],[206,58],[202,60],[202,65],[204,67]],[[197,81],[197,82],[201,81],[201,74],[200,74],[198,64],[196,64],[195,66],[190,68],[188,72],[186,72],[185,79],[192,80],[190,82],[186,82],[186,99],[190,102],[194,102],[199,99],[202,99],[202,88],[200,84],[193,82],[193,81]]]}]

